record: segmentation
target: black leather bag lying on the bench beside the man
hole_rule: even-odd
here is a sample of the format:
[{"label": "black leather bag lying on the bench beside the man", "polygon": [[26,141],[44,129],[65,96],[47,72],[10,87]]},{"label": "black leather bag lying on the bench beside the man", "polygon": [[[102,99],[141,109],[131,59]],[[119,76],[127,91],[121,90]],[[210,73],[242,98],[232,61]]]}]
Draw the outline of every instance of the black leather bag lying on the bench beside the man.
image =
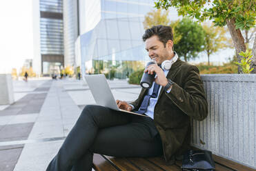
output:
[{"label": "black leather bag lying on the bench beside the man", "polygon": [[181,169],[188,171],[215,170],[212,152],[208,150],[188,150],[184,154]]}]

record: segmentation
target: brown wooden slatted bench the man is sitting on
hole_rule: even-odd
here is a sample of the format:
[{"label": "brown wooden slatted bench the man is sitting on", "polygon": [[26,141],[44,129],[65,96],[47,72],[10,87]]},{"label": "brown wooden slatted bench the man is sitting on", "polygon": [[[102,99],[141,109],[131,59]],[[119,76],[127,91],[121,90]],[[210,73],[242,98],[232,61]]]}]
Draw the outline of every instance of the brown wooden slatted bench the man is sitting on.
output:
[{"label": "brown wooden slatted bench the man is sitting on", "polygon": [[[215,160],[216,171],[255,171],[245,165],[214,154],[213,159]],[[162,157],[118,158],[95,154],[93,157],[93,168],[96,171],[179,171],[181,170],[181,161],[176,161],[174,165],[166,165]]]}]

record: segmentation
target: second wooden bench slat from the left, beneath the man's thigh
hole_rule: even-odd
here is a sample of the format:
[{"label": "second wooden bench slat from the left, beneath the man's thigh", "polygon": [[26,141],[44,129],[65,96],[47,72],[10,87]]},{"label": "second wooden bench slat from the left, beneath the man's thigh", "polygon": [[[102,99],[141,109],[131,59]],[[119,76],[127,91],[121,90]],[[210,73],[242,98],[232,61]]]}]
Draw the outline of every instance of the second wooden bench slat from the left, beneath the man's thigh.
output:
[{"label": "second wooden bench slat from the left, beneath the man's thigh", "polygon": [[128,161],[126,158],[110,157],[110,156],[104,156],[104,157],[106,157],[112,163],[117,165],[117,167],[120,170],[124,170],[124,171],[140,171],[138,168],[135,167],[135,165],[132,165],[132,163],[130,163],[130,161]]}]

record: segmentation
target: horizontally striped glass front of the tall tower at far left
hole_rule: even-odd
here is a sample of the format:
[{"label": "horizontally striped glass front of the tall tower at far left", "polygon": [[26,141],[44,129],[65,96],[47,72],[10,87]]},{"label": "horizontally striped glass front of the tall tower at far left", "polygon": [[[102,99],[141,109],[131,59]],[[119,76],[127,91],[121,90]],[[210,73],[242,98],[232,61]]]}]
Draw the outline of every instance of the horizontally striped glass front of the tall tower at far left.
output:
[{"label": "horizontally striped glass front of the tall tower at far left", "polygon": [[63,67],[62,0],[40,0],[41,63],[44,75],[58,74]]}]

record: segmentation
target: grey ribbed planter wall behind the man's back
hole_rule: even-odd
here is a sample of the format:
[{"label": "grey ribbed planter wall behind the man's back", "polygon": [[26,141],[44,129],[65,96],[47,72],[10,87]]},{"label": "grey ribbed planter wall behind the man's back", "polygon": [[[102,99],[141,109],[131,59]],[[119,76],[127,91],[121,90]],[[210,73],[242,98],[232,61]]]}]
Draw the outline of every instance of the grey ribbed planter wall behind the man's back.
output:
[{"label": "grey ribbed planter wall behind the man's back", "polygon": [[202,74],[208,117],[192,121],[192,145],[256,168],[256,74]]}]

